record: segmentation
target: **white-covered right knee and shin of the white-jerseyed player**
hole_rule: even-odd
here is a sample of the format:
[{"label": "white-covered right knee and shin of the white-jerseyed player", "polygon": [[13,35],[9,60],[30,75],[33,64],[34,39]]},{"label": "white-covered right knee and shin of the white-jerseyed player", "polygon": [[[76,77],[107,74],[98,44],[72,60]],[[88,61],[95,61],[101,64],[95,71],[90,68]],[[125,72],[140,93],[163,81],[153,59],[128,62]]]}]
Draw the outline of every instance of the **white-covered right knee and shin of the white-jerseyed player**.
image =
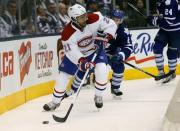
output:
[{"label": "white-covered right knee and shin of the white-jerseyed player", "polygon": [[98,63],[95,67],[95,86],[97,88],[106,88],[108,81],[108,69],[105,63]]}]

